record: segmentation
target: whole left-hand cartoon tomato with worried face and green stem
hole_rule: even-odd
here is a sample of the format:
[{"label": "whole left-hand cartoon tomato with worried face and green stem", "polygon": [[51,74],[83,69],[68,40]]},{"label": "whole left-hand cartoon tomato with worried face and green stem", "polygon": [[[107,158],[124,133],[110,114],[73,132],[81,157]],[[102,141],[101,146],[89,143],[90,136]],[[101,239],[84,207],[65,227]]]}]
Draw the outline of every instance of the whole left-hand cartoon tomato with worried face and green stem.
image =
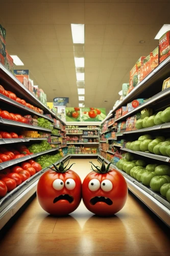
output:
[{"label": "whole left-hand cartoon tomato with worried face and green stem", "polygon": [[[69,163],[69,162],[68,162]],[[66,169],[63,162],[55,169],[47,170],[37,184],[37,198],[40,206],[55,216],[64,216],[76,210],[81,202],[81,179],[77,173]]]}]

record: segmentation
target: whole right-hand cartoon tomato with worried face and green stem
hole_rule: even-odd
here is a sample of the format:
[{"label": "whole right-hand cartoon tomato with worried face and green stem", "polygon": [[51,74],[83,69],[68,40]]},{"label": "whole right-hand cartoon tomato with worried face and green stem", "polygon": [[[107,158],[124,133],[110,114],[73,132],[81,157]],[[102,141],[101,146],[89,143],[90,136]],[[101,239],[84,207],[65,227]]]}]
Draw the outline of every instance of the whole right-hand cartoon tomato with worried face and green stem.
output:
[{"label": "whole right-hand cartoon tomato with worried face and green stem", "polygon": [[121,210],[128,197],[125,178],[116,169],[109,169],[110,164],[95,166],[82,184],[82,198],[86,208],[99,216],[112,216]]}]

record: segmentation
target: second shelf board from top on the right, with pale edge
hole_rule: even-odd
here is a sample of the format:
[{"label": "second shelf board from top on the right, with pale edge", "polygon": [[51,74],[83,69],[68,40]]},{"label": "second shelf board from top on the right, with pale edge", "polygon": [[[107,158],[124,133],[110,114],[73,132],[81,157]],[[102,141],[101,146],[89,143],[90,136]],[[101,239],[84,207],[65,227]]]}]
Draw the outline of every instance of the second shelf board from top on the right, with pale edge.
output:
[{"label": "second shelf board from top on the right, with pale edge", "polygon": [[140,110],[146,108],[147,106],[152,106],[152,104],[155,102],[159,102],[160,100],[164,100],[165,98],[169,98],[170,96],[170,88],[166,89],[166,90],[163,90],[161,91],[160,93],[154,95],[153,97],[151,97],[150,99],[148,99],[147,101],[145,101],[143,104],[137,106],[137,108],[129,111],[127,114],[125,114],[124,116],[122,117],[119,117],[115,120],[115,122],[118,122],[120,120],[125,120],[127,117],[129,116],[133,116],[135,113],[138,113],[140,112]]}]

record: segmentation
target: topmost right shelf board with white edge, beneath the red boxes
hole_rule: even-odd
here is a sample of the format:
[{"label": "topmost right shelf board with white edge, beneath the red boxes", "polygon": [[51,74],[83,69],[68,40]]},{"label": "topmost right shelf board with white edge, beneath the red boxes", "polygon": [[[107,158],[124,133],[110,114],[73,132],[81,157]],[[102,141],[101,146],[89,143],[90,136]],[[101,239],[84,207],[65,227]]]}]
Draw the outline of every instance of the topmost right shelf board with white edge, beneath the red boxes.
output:
[{"label": "topmost right shelf board with white edge, beneath the red boxes", "polygon": [[[160,79],[161,77],[169,77],[170,69],[170,56],[163,60],[158,67],[156,67],[147,77],[145,77],[125,98],[120,102],[111,113],[114,113],[121,106],[126,105],[132,100],[136,99],[141,92],[145,92],[150,86],[154,86],[154,82]],[[147,93],[147,92],[146,92]],[[155,95],[156,96],[156,95]],[[154,96],[154,97],[155,97]]]}]

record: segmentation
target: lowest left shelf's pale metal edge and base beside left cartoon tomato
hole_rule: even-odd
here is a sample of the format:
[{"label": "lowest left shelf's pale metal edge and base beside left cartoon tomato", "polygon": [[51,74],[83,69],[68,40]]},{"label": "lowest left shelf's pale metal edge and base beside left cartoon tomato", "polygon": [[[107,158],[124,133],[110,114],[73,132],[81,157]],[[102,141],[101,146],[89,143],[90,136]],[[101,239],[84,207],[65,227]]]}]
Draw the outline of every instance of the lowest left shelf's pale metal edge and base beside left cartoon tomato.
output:
[{"label": "lowest left shelf's pale metal edge and base beside left cartoon tomato", "polygon": [[[61,158],[55,164],[69,158],[68,155]],[[52,165],[50,165],[52,167]],[[41,175],[46,172],[47,167],[40,170],[28,180],[22,182],[5,197],[0,200],[0,229],[16,214],[20,207],[36,192],[37,183]]]}]

